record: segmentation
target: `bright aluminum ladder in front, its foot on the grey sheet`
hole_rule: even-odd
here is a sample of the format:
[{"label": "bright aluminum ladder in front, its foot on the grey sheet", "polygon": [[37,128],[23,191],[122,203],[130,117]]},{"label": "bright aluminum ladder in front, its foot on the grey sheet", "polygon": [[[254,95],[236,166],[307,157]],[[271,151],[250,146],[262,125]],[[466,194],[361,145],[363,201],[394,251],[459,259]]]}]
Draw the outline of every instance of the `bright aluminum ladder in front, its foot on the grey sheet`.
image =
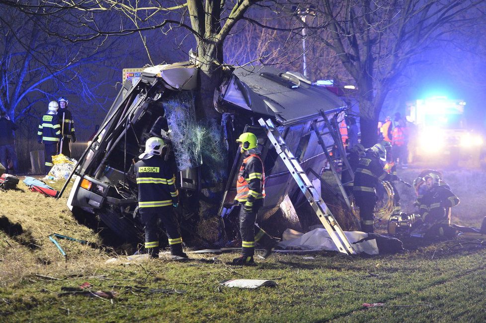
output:
[{"label": "bright aluminum ladder in front, its foot on the grey sheet", "polygon": [[278,156],[280,156],[285,163],[285,166],[287,166],[292,177],[294,177],[297,185],[299,185],[299,188],[306,196],[307,201],[314,212],[316,212],[319,220],[324,225],[325,230],[336,245],[338,251],[344,254],[355,254],[356,251],[353,246],[344,235],[344,232],[336,219],[334,219],[334,216],[331,214],[327,205],[325,205],[317,189],[312,185],[312,182],[309,177],[307,177],[306,172],[302,169],[297,158],[294,157],[288,149],[285,141],[280,137],[280,133],[273,125],[273,122],[270,119],[265,121],[263,118],[260,118],[258,123],[265,129],[266,136],[277,151]]}]

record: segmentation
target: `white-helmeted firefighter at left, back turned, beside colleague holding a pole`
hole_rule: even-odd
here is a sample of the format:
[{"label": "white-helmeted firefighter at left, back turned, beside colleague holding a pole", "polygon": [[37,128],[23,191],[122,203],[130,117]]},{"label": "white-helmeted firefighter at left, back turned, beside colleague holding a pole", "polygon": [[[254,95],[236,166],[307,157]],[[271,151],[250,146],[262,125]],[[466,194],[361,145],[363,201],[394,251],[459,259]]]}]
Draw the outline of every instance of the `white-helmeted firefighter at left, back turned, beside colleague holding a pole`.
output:
[{"label": "white-helmeted firefighter at left, back turned, beside colleague holding a pole", "polygon": [[52,156],[57,155],[59,138],[61,137],[61,125],[57,116],[59,105],[56,101],[49,102],[47,114],[42,116],[37,131],[37,142],[44,143],[45,173],[49,173],[52,167]]}]

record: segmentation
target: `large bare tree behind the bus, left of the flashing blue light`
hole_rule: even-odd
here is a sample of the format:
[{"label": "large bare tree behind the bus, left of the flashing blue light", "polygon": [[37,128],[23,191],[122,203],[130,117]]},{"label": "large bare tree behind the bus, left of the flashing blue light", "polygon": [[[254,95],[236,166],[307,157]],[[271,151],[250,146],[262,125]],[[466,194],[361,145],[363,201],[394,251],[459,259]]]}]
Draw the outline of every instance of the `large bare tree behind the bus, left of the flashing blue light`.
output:
[{"label": "large bare tree behind the bus, left of the flashing blue light", "polygon": [[475,23],[481,13],[474,9],[484,1],[311,2],[315,19],[326,22],[326,29],[313,36],[337,55],[356,82],[362,142],[371,146],[383,102],[410,60],[440,36]]}]

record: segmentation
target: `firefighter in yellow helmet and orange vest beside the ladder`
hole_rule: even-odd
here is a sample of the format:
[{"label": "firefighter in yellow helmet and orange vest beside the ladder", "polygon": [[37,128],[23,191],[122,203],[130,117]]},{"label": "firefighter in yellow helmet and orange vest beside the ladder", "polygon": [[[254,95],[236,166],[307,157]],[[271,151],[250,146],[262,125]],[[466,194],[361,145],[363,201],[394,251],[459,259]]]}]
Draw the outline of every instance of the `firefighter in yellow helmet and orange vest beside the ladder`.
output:
[{"label": "firefighter in yellow helmet and orange vest beside the ladder", "polygon": [[[276,245],[274,238],[260,229],[255,223],[258,209],[263,205],[265,197],[265,173],[256,136],[250,132],[243,133],[237,139],[243,163],[236,183],[235,200],[240,204],[240,232],[242,235],[242,255],[233,259],[235,265],[251,265],[254,263],[255,242],[265,247],[263,258],[268,257]],[[255,235],[255,232],[256,235]]]}]

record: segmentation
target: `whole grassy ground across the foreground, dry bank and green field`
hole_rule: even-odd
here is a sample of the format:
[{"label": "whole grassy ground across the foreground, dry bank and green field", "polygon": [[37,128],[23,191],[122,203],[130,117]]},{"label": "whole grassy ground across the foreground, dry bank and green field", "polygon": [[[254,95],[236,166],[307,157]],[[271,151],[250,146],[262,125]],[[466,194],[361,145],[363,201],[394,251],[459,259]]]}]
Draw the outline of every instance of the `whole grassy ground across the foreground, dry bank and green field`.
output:
[{"label": "whole grassy ground across the foreground, dry bank and green field", "polygon": [[[417,172],[401,176],[411,181]],[[455,223],[480,224],[485,177],[479,171],[444,173],[461,198]],[[399,190],[404,202],[412,199],[404,187]],[[65,259],[49,234],[100,242],[75,221],[66,198],[27,189],[0,192],[2,322],[486,321],[484,236],[405,241],[409,251],[373,257],[275,254],[254,267],[228,266],[236,253],[191,254],[187,262],[129,261],[123,248],[59,240]],[[219,284],[237,278],[272,279],[278,286],[243,290]],[[79,288],[83,283],[89,287]],[[97,291],[109,298],[94,296]]]}]

